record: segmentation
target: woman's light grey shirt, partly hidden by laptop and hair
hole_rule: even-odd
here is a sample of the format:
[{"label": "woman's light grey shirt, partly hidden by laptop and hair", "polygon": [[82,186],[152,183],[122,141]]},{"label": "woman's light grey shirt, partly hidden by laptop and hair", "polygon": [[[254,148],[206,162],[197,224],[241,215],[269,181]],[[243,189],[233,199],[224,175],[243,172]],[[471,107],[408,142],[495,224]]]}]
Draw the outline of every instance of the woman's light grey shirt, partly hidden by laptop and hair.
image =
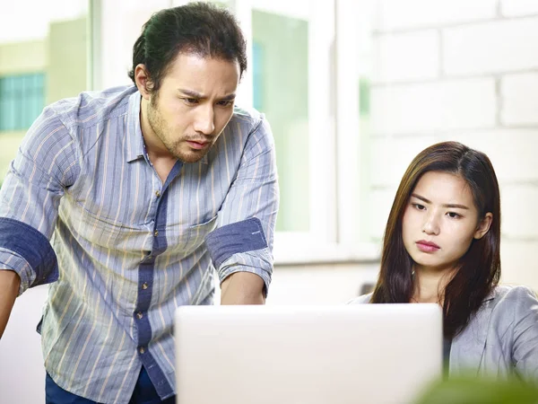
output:
[{"label": "woman's light grey shirt, partly hidden by laptop and hair", "polygon": [[[364,294],[350,303],[369,303]],[[452,340],[449,374],[538,381],[538,299],[525,286],[498,286]]]}]

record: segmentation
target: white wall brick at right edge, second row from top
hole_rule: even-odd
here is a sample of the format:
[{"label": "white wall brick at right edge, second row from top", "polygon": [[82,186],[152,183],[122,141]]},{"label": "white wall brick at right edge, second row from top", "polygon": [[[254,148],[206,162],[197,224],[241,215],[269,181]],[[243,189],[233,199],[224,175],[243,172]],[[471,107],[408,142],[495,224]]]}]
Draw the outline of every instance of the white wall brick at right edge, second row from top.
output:
[{"label": "white wall brick at right edge, second row from top", "polygon": [[447,75],[482,75],[538,66],[538,17],[450,28],[443,31],[442,38]]}]

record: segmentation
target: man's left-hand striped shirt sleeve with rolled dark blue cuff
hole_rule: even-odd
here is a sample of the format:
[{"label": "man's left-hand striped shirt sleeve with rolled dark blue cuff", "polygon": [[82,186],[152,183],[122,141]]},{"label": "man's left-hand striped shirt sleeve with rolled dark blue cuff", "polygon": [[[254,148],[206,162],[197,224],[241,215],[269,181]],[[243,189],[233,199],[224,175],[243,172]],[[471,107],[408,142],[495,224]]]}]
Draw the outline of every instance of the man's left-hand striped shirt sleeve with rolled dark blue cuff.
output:
[{"label": "man's left-hand striped shirt sleeve with rolled dark blue cuff", "polygon": [[46,109],[22,140],[0,189],[0,269],[21,277],[19,294],[58,277],[50,245],[60,198],[78,173],[68,130]]}]

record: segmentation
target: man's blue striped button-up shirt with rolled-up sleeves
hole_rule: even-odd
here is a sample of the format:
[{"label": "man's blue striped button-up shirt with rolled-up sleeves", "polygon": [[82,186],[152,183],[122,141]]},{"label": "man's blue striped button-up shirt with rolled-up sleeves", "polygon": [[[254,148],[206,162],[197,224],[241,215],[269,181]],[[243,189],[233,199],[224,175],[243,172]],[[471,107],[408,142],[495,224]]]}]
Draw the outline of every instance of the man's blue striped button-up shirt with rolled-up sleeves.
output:
[{"label": "man's blue striped button-up shirt with rolled-up sleeves", "polygon": [[263,115],[236,108],[209,153],[163,183],[140,101],[129,86],[49,106],[0,191],[0,268],[19,274],[20,294],[52,282],[47,372],[102,403],[127,403],[141,366],[173,396],[175,309],[213,303],[213,269],[256,273],[265,288],[273,270],[279,195]]}]

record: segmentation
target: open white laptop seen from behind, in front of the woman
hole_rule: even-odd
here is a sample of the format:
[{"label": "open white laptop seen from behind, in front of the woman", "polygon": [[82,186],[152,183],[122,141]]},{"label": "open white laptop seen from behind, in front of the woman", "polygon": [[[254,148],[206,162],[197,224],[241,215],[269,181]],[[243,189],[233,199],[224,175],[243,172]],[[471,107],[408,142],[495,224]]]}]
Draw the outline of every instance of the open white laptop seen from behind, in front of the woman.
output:
[{"label": "open white laptop seen from behind, in front of the woman", "polygon": [[406,403],[442,371],[437,304],[182,306],[178,404]]}]

